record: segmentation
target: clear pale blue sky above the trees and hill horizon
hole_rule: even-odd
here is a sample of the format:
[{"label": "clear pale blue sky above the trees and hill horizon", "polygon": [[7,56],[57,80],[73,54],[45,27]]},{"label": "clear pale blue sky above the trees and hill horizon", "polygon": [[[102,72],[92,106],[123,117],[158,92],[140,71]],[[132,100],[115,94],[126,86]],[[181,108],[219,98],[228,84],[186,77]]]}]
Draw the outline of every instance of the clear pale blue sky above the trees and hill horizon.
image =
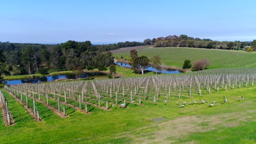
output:
[{"label": "clear pale blue sky above the trees and hill horizon", "polygon": [[0,41],[110,44],[181,34],[252,41],[255,5],[255,0],[0,0]]}]

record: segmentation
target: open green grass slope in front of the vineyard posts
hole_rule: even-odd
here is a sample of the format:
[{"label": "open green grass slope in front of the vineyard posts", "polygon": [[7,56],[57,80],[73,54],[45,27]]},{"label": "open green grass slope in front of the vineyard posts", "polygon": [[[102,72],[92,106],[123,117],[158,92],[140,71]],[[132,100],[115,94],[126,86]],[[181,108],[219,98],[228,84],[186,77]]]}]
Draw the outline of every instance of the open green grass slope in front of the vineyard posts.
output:
[{"label": "open green grass slope in front of the vineyard posts", "polygon": [[[206,94],[209,104],[176,105],[176,101],[144,103],[144,106],[84,114],[74,110],[70,117],[54,113],[34,122],[3,90],[16,124],[4,127],[0,117],[0,143],[255,143],[256,86]],[[228,103],[223,103],[223,95]],[[240,100],[241,96],[245,100]],[[179,103],[199,97],[178,100]],[[240,100],[240,101],[238,101]],[[16,105],[16,107],[14,106]],[[43,108],[45,109],[45,107]],[[153,118],[165,118],[154,122]]]}]

